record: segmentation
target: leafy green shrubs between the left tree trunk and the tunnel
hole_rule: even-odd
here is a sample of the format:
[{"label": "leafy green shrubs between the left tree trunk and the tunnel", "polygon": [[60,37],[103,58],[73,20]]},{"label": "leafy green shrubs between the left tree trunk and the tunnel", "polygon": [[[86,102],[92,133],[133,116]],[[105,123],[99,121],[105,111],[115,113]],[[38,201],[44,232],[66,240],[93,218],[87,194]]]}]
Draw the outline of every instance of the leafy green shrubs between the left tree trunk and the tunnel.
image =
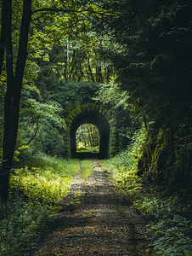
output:
[{"label": "leafy green shrubs between the left tree trunk and the tunnel", "polygon": [[24,86],[17,147],[29,145],[27,155],[43,151],[62,156],[65,154],[62,137],[65,130],[64,110],[58,102],[42,102],[41,96],[36,86]]}]

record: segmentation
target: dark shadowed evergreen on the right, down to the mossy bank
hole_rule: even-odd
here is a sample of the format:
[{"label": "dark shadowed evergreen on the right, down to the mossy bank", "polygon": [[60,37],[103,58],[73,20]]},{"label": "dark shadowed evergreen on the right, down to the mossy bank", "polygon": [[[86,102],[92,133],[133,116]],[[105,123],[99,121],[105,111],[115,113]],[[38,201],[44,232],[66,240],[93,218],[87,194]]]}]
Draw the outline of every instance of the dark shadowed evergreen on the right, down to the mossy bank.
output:
[{"label": "dark shadowed evergreen on the right, down to the mossy bank", "polygon": [[169,190],[191,191],[191,1],[126,0],[111,8],[119,15],[103,24],[119,44],[109,53],[116,84],[149,132],[142,172]]}]

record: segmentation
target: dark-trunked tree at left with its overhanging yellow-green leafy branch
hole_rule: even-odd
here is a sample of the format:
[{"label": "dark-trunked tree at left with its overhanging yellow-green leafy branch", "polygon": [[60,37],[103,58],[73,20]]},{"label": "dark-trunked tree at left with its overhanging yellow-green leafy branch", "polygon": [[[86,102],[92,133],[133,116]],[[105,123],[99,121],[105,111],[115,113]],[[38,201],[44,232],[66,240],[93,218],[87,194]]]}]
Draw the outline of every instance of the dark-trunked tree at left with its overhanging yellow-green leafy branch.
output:
[{"label": "dark-trunked tree at left with its overhanging yellow-green leafy branch", "polygon": [[[23,4],[21,3],[20,5],[20,3],[18,3],[22,10],[21,13],[19,12],[19,15],[22,14],[22,17],[21,20],[20,18],[18,19],[19,25],[17,30],[15,30],[16,34],[20,35],[17,50],[17,47],[13,49],[12,38],[12,32],[14,31],[12,27],[13,3],[15,3],[14,0],[3,0],[2,2],[2,31],[0,43],[0,68],[2,70],[5,49],[7,67],[7,91],[4,101],[3,161],[0,170],[0,196],[4,200],[8,198],[8,177],[17,139],[20,92],[24,78],[26,57],[29,55],[29,53],[27,53],[27,43],[31,21],[36,22],[36,20],[42,20],[43,22],[43,19],[45,19],[52,22],[51,25],[53,25],[53,27],[44,26],[43,32],[50,32],[51,30],[51,33],[49,33],[51,34],[51,38],[49,38],[50,41],[52,41],[52,44],[59,45],[59,38],[62,38],[64,34],[63,31],[65,31],[65,35],[78,32],[78,30],[82,31],[84,22],[92,24],[95,20],[98,20],[104,15],[102,6],[99,5],[99,3],[92,3],[91,1],[38,0],[32,6],[32,0],[23,0]],[[54,16],[54,13],[57,15]],[[107,10],[105,13],[107,13]],[[92,16],[95,16],[95,18],[92,18]],[[31,19],[31,17],[33,19]],[[62,26],[55,26],[56,24],[61,24]],[[54,29],[54,27],[56,27],[56,29]],[[39,35],[37,34],[37,36]],[[34,49],[34,51],[35,50],[36,49]],[[15,55],[16,64],[14,66]]]}]

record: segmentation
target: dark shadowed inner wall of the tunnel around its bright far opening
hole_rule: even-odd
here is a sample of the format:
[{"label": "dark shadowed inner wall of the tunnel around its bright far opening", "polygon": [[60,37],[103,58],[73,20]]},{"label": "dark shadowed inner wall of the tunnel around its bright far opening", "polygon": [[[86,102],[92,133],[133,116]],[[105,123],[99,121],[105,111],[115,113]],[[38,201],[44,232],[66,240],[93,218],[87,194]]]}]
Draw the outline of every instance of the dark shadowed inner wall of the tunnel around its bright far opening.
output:
[{"label": "dark shadowed inner wall of the tunnel around its bright far opening", "polygon": [[[99,150],[90,152],[78,152],[76,150],[76,131],[84,124],[95,125],[99,131]],[[110,125],[100,113],[80,113],[73,119],[70,128],[71,158],[77,159],[106,159],[109,155]]]}]

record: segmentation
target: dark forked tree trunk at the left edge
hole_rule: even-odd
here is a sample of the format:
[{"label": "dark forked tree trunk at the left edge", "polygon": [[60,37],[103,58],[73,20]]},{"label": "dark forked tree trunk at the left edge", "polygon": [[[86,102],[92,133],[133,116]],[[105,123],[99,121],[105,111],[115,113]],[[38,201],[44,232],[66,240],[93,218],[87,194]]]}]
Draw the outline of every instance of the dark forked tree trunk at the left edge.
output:
[{"label": "dark forked tree trunk at the left edge", "polygon": [[0,170],[0,196],[4,201],[8,199],[8,177],[10,174],[17,139],[20,111],[20,92],[23,81],[25,60],[27,55],[28,33],[31,22],[31,0],[23,1],[23,15],[20,26],[20,42],[15,74],[13,73],[11,38],[12,0],[6,0],[6,4],[8,4],[8,18],[6,24],[5,45],[10,54],[7,55],[6,60],[8,84],[4,102],[3,161]]}]

